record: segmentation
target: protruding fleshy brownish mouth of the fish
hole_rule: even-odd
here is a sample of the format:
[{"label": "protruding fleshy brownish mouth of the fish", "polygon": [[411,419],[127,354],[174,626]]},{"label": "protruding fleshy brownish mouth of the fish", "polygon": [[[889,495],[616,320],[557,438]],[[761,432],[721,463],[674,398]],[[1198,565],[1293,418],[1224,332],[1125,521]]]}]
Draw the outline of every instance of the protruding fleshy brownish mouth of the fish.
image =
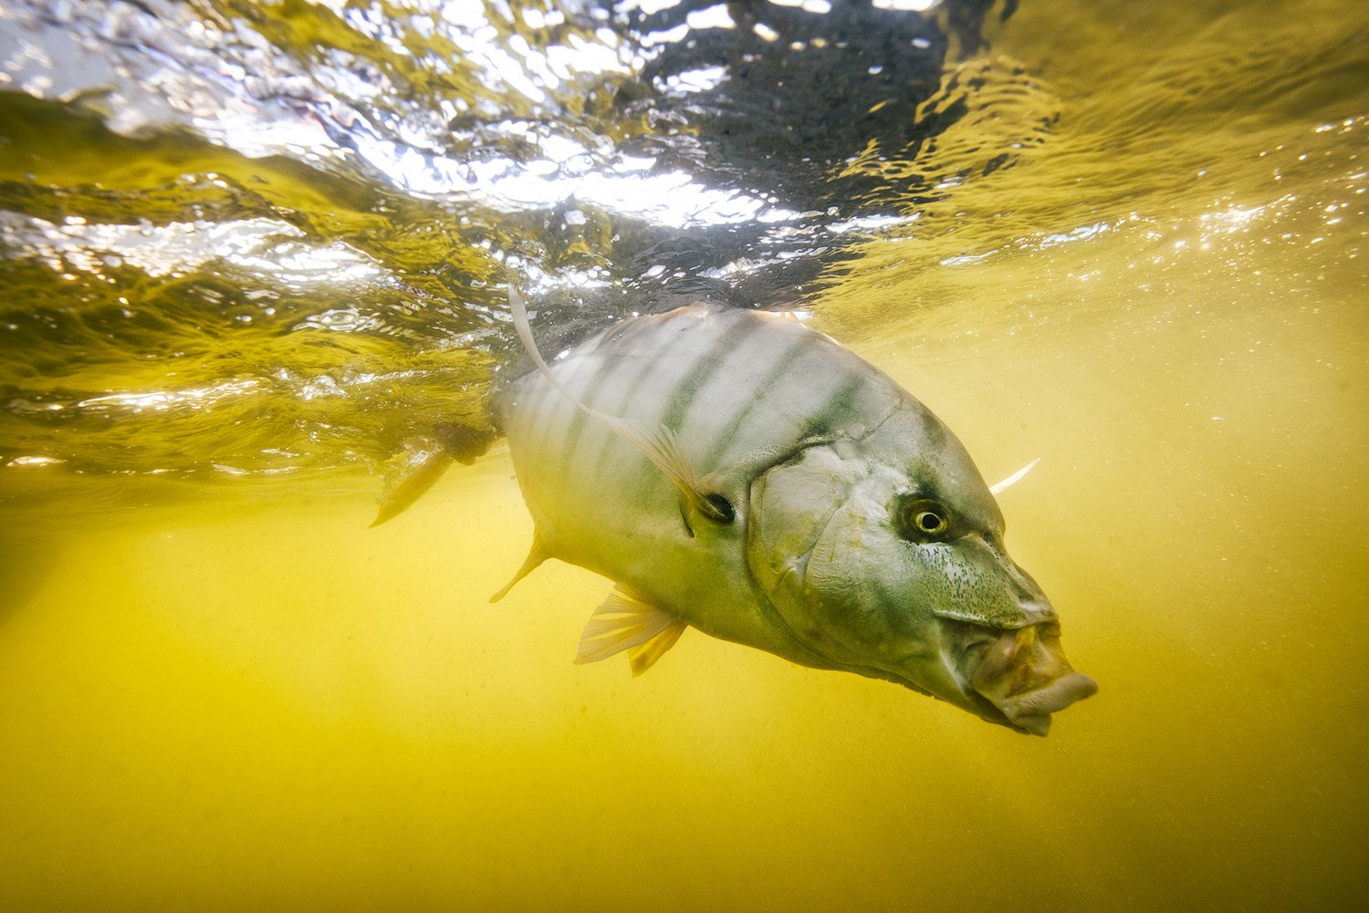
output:
[{"label": "protruding fleshy brownish mouth of the fish", "polygon": [[1032,735],[1046,735],[1051,713],[1098,691],[1097,682],[1069,665],[1055,623],[1003,631],[984,650],[971,684]]}]

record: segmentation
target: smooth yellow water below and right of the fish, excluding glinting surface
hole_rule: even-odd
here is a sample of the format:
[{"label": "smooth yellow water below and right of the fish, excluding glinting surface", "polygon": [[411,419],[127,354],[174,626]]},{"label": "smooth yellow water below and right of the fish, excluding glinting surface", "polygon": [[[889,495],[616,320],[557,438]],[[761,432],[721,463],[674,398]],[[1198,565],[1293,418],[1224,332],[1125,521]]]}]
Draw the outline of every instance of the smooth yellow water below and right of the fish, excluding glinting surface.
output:
[{"label": "smooth yellow water below and right of the fish, excluding glinting surface", "polygon": [[1135,5],[1024,3],[1051,140],[812,303],[1042,457],[1009,546],[1101,684],[1049,738],[697,632],[572,665],[608,582],[486,602],[502,446],[376,530],[361,474],[5,467],[0,908],[1357,909],[1369,21]]}]

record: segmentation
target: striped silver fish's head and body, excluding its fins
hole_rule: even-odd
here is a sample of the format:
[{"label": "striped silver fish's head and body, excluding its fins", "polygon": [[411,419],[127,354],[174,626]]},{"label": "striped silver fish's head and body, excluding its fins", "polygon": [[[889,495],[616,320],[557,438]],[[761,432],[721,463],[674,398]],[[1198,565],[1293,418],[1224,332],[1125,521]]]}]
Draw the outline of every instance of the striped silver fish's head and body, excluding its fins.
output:
[{"label": "striped silver fish's head and body, excluding its fins", "polygon": [[[520,576],[561,558],[619,583],[601,612],[650,609],[652,630],[887,679],[1038,735],[1097,687],[1003,550],[960,441],[797,320],[713,305],[624,320],[496,412],[535,524]],[[631,428],[664,442],[634,446]]]}]

